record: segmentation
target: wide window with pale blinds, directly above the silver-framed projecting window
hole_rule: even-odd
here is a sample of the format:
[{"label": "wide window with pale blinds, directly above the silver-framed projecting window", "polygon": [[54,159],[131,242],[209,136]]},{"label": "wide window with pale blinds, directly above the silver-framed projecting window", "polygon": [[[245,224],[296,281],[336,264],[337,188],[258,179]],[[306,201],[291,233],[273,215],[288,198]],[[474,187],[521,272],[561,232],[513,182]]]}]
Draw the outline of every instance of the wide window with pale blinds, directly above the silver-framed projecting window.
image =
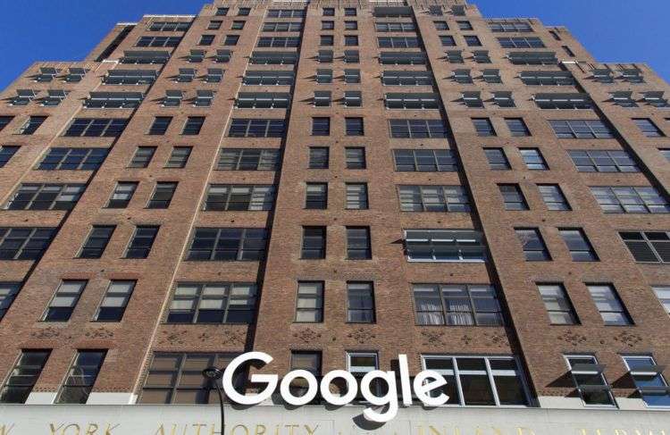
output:
[{"label": "wide window with pale blinds, directly above the silver-framed projecting window", "polygon": [[470,212],[462,186],[398,186],[403,212]]}]

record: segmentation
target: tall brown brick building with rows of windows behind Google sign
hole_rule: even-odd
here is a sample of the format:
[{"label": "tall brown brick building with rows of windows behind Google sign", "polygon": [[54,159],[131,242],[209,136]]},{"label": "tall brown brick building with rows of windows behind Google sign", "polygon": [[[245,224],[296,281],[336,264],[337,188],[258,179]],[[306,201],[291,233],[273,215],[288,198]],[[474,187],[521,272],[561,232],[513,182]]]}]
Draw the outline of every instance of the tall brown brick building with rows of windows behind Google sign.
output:
[{"label": "tall brown brick building with rows of windows behind Google sign", "polygon": [[406,354],[449,415],[667,430],[667,90],[461,1],[119,23],[1,95],[0,402],[170,412],[250,350],[279,374]]}]

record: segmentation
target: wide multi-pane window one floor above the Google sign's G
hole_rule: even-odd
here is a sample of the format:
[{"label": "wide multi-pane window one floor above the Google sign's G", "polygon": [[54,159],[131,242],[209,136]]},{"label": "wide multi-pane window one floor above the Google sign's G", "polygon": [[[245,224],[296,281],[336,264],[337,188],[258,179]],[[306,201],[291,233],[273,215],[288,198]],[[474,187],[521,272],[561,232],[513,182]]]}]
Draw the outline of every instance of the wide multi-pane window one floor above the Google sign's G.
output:
[{"label": "wide multi-pane window one floor above the Google sign's G", "polygon": [[251,282],[180,282],[166,322],[250,324],[257,291]]}]

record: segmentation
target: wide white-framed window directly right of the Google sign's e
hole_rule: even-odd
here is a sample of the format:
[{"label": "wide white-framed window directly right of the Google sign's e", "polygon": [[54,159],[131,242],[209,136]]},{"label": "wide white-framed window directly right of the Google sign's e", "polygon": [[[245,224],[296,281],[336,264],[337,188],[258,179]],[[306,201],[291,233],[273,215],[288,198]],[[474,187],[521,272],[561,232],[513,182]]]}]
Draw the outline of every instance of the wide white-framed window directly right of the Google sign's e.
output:
[{"label": "wide white-framed window directly right of the Google sign's e", "polygon": [[528,406],[523,372],[514,356],[422,356],[423,367],[440,373],[448,405]]}]

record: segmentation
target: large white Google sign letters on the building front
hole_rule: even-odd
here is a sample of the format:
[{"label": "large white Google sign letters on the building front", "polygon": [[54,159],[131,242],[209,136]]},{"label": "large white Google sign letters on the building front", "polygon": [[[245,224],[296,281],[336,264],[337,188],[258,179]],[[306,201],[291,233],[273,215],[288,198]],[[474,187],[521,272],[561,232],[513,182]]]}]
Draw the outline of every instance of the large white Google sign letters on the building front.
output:
[{"label": "large white Google sign letters on the building front", "polygon": [[[240,394],[235,387],[233,387],[234,373],[242,364],[253,363],[260,361],[264,364],[272,362],[272,356],[264,352],[247,352],[233,359],[223,372],[223,391],[233,402],[240,405],[258,405],[264,400],[269,399],[272,393],[277,389],[279,377],[276,374],[252,374],[252,382],[263,382],[266,384],[263,391],[258,394],[245,396]],[[416,374],[414,382],[409,378],[409,368],[407,365],[407,356],[398,355],[398,365],[400,372],[400,390],[402,393],[402,402],[405,406],[412,405],[412,387],[414,387],[415,397],[423,402],[426,406],[440,406],[447,403],[449,397],[443,393],[437,396],[431,396],[429,393],[433,389],[439,389],[447,384],[444,377],[431,370],[424,370]],[[294,396],[289,389],[290,383],[298,378],[302,378],[307,382],[307,392],[303,396]],[[347,393],[339,396],[331,393],[331,382],[335,379],[342,379],[347,382]],[[370,389],[370,384],[377,379],[385,381],[389,386],[387,393],[383,396],[376,396]],[[413,384],[413,385],[411,385]],[[350,403],[358,393],[358,382],[350,372],[345,370],[333,370],[323,375],[321,385],[316,381],[314,374],[306,370],[294,370],[287,373],[280,383],[281,398],[289,405],[302,406],[306,405],[316,397],[319,391],[323,399],[334,406],[344,406]],[[373,370],[365,373],[363,380],[361,380],[361,394],[373,406],[385,406],[381,410],[367,407],[364,409],[365,419],[372,422],[389,422],[396,414],[398,414],[398,385],[396,383],[395,372],[383,372],[381,370]]]}]

